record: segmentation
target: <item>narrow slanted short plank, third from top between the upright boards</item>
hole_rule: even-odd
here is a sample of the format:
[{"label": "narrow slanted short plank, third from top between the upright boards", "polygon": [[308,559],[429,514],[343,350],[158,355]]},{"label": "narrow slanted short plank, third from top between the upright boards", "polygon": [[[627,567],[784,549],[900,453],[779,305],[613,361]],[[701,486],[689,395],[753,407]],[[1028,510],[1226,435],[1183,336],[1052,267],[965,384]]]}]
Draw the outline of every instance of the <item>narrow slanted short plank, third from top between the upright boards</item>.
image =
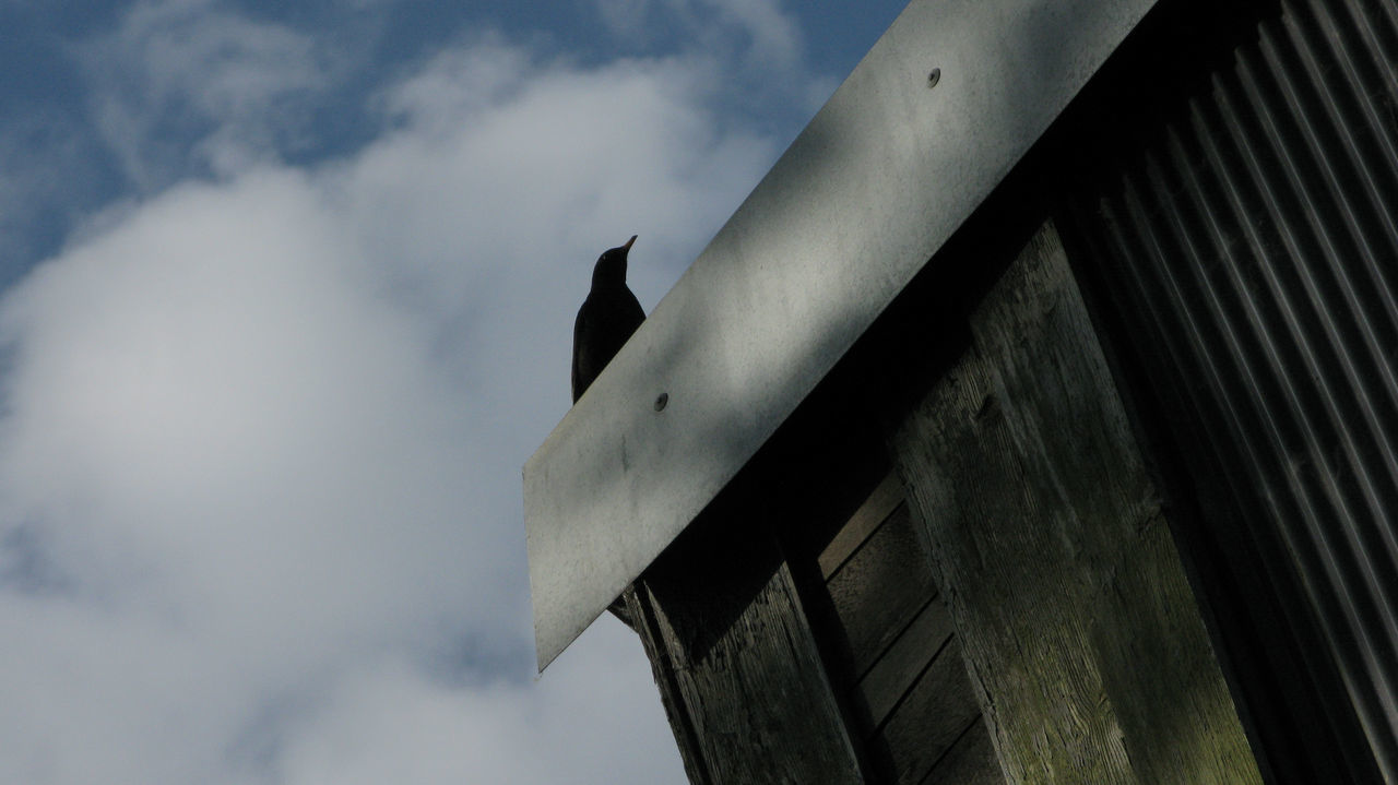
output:
[{"label": "narrow slanted short plank, third from top between the upright boards", "polygon": [[935,598],[928,601],[913,623],[860,679],[853,703],[865,728],[878,728],[888,719],[898,701],[927,669],[927,663],[951,641],[953,631],[946,606]]}]

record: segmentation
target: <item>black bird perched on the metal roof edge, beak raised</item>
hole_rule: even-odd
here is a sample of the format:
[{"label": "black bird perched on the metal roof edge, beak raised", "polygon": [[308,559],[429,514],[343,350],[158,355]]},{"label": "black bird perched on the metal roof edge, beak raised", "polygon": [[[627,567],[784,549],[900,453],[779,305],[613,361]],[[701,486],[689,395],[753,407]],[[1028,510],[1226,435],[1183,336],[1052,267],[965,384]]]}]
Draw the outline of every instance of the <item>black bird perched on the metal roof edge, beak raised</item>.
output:
[{"label": "black bird perched on the metal roof edge, beak raised", "polygon": [[626,254],[636,242],[603,251],[593,268],[593,291],[573,323],[573,402],[583,397],[622,344],[646,320],[636,295],[626,288]]}]

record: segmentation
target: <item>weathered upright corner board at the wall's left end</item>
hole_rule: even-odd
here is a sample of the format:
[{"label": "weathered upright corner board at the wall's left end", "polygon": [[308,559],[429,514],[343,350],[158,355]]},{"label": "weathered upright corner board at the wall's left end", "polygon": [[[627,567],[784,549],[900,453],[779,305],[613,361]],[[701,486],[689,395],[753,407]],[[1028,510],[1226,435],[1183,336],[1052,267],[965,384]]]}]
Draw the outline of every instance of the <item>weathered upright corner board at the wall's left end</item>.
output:
[{"label": "weathered upright corner board at the wall's left end", "polygon": [[689,532],[636,584],[640,634],[692,782],[864,782],[770,535]]}]

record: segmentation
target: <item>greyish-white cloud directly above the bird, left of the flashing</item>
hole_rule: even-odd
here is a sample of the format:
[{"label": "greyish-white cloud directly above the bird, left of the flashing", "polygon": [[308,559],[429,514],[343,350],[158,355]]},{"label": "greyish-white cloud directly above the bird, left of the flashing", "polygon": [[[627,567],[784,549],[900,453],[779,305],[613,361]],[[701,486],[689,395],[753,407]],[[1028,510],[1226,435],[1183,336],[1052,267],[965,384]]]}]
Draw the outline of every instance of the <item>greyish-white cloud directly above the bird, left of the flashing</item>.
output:
[{"label": "greyish-white cloud directly above the bird, left of the flashing", "polygon": [[[489,298],[521,307],[565,296],[551,286],[576,296],[597,253],[632,233],[635,282],[653,303],[774,158],[770,138],[719,129],[707,102],[720,74],[707,60],[577,70],[496,50],[484,45],[514,67],[487,68],[468,82],[480,89],[454,87],[480,73],[471,47],[391,91],[403,129],[336,183],[366,244],[411,249],[393,272],[439,307],[461,309],[482,275]],[[496,102],[482,108],[482,92]]]}]

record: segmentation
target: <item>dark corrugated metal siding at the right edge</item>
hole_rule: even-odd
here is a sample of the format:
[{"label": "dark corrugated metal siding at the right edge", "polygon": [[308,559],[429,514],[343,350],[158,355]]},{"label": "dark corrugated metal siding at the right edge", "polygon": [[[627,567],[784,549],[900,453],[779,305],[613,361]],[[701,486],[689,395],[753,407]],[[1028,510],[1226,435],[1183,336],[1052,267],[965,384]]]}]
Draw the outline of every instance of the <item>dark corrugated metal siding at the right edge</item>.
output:
[{"label": "dark corrugated metal siding at the right edge", "polygon": [[1290,581],[1309,603],[1292,610],[1318,623],[1346,693],[1329,700],[1353,707],[1388,782],[1398,782],[1395,63],[1398,4],[1282,3],[1183,88],[1174,110],[1123,131],[1134,141],[1076,211],[1095,256],[1114,265],[1103,278],[1127,351],[1149,358],[1152,384],[1173,388],[1213,453],[1218,485],[1289,562],[1269,564],[1269,580]]}]

